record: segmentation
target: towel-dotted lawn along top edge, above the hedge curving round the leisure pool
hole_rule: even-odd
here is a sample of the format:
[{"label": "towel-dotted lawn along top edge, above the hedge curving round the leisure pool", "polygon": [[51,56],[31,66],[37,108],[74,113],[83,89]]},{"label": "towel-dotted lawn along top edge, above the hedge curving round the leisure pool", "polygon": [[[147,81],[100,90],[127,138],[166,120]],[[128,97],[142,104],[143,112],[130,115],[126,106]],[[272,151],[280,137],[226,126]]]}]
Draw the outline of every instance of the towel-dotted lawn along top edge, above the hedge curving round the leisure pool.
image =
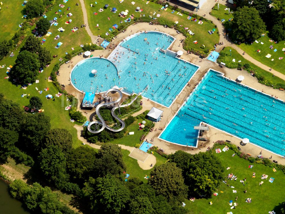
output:
[{"label": "towel-dotted lawn along top edge, above the hedge curving round the leisure pool", "polygon": [[[183,14],[182,16],[178,15],[177,12],[171,13],[171,9],[167,9],[166,11],[159,9],[162,7],[162,5],[155,4],[153,2],[149,2],[146,4],[146,1],[135,1],[135,5],[132,5],[131,2],[133,0],[124,0],[122,3],[119,3],[118,0],[110,0],[108,1],[108,4],[110,5],[107,9],[104,9],[104,5],[106,4],[106,1],[98,0],[97,4],[94,4],[94,1],[92,0],[86,0],[85,6],[87,10],[88,15],[88,23],[89,27],[94,35],[103,35],[106,32],[109,33],[109,28],[112,28],[114,24],[120,25],[120,21],[124,21],[125,19],[129,18],[129,15],[134,14],[135,16],[140,16],[145,14],[146,17],[149,15],[152,15],[152,17],[156,17],[157,14],[160,14],[160,17],[157,21],[160,19],[176,22],[178,21],[178,25],[182,25],[183,27],[188,27],[195,35],[192,37],[192,40],[188,44],[185,44],[187,46],[200,49],[201,45],[205,45],[205,49],[213,48],[214,44],[219,41],[219,36],[216,34],[210,35],[207,31],[213,29],[215,25],[213,23],[207,23],[204,22],[202,25],[198,24],[197,22],[192,22],[187,19],[187,15]],[[90,7],[90,5],[93,4],[95,7]],[[111,8],[117,8],[116,13],[111,12]],[[135,12],[135,9],[137,7],[140,7],[143,9],[143,12]],[[103,12],[99,12],[99,9],[103,8]],[[129,14],[126,18],[119,17],[119,13],[121,11],[129,10]],[[98,13],[97,15],[93,15],[93,13]],[[153,13],[156,12],[156,14],[153,16]],[[108,21],[107,17],[110,17],[110,21]],[[192,18],[193,19],[193,18]],[[125,23],[125,22],[124,22]],[[96,27],[96,25],[99,24],[99,27]],[[137,25],[139,28],[139,25]],[[99,30],[100,28],[100,30]],[[142,29],[143,30],[143,29]],[[167,29],[165,29],[167,30]],[[193,41],[197,40],[198,44],[194,44]],[[203,51],[203,49],[200,49]]]}]

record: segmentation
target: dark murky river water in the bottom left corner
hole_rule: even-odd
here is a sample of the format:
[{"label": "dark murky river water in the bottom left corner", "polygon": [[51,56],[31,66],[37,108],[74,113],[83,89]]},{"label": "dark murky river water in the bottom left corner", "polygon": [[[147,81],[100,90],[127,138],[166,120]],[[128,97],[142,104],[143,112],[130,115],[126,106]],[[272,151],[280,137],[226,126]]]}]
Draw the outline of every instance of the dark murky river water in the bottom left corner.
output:
[{"label": "dark murky river water in the bottom left corner", "polygon": [[29,214],[17,199],[9,193],[9,185],[0,179],[0,213],[1,214]]}]

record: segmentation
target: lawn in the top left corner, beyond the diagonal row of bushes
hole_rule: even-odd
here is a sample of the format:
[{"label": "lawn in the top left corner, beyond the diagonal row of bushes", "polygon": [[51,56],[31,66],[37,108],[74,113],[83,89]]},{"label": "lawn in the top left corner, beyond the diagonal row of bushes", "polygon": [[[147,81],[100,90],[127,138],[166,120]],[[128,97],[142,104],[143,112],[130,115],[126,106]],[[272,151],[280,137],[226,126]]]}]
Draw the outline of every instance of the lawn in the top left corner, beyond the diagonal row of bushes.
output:
[{"label": "lawn in the top left corner, beyond the diagonal row of bushes", "polygon": [[[23,0],[24,1],[24,0]],[[12,39],[14,34],[20,29],[19,24],[24,22],[21,11],[23,10],[22,0],[3,0],[3,5],[0,5],[0,20],[1,33],[0,42],[4,39]],[[8,8],[7,8],[8,7]]]}]

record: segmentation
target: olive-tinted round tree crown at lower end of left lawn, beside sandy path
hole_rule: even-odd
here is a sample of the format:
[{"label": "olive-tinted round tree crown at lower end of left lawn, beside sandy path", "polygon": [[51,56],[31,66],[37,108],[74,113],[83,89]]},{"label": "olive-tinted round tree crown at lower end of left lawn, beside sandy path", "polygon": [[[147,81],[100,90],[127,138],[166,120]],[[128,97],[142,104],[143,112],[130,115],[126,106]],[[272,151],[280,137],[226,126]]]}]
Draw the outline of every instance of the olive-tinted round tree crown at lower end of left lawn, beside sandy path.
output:
[{"label": "olive-tinted round tree crown at lower end of left lawn, beside sandy path", "polygon": [[44,147],[57,146],[68,154],[72,150],[72,134],[66,129],[52,129],[46,133]]}]

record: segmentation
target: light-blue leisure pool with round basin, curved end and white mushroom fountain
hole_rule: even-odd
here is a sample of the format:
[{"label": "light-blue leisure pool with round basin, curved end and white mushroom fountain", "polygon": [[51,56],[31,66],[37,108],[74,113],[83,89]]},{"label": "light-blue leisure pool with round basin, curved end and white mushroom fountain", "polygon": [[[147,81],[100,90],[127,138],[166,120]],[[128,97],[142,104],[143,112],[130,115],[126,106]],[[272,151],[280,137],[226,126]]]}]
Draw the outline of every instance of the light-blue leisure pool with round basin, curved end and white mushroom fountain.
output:
[{"label": "light-blue leisure pool with round basin, curved end and white mushroom fountain", "polygon": [[143,92],[144,97],[169,107],[199,68],[175,58],[175,53],[160,51],[172,41],[173,37],[160,32],[134,34],[110,54],[110,61],[88,58],[79,62],[72,70],[72,83],[84,92],[104,92],[116,85],[129,93]]}]

